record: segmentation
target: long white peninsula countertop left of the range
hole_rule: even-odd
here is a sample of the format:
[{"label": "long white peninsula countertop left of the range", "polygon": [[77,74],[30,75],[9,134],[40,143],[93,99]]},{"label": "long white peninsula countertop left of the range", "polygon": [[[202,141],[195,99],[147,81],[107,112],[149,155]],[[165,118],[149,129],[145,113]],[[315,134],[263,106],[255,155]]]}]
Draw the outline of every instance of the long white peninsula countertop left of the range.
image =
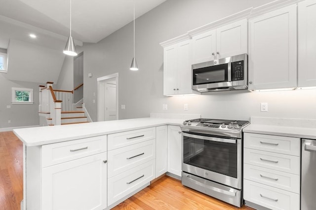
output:
[{"label": "long white peninsula countertop left of the range", "polygon": [[138,118],[20,128],[13,132],[27,147],[32,147],[160,125],[180,125],[182,122],[182,119]]}]

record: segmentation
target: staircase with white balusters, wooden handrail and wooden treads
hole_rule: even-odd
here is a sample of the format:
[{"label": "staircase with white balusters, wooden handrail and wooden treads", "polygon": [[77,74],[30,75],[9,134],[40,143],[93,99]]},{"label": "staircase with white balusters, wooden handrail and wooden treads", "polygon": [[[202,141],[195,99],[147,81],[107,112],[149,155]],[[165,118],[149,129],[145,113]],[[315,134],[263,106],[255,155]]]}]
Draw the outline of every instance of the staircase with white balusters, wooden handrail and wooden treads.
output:
[{"label": "staircase with white balusters, wooden handrail and wooden treads", "polygon": [[74,90],[53,90],[53,83],[47,82],[46,84],[47,87],[40,86],[39,116],[42,126],[89,122],[84,104],[82,103],[81,107],[72,104]]}]

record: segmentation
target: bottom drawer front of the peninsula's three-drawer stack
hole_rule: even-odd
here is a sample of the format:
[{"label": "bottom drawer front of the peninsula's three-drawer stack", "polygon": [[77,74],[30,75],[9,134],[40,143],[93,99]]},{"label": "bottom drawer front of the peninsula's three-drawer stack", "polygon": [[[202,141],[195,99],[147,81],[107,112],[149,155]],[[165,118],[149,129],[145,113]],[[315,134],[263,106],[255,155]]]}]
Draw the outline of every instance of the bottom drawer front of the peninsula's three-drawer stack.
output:
[{"label": "bottom drawer front of the peninsula's three-drawer stack", "polygon": [[108,206],[155,179],[155,160],[108,179]]}]

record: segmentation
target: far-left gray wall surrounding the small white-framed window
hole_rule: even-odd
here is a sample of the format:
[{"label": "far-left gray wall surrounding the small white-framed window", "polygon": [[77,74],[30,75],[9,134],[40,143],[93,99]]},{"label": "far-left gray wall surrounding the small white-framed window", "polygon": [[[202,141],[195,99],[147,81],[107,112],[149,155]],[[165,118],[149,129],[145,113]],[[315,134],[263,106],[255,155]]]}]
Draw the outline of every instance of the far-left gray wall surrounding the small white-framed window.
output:
[{"label": "far-left gray wall surrounding the small white-framed window", "polygon": [[[40,124],[39,118],[39,83],[12,81],[0,73],[0,129]],[[34,104],[11,104],[12,88],[33,89]],[[6,106],[11,106],[7,109]],[[8,123],[11,120],[11,123]]]}]

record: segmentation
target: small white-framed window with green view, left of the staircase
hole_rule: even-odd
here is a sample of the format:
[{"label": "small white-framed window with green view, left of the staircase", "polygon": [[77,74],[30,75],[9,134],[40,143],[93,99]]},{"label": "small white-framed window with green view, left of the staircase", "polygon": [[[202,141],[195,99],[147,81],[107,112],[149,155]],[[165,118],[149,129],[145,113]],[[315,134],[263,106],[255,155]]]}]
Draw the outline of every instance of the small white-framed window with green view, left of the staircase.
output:
[{"label": "small white-framed window with green view, left of the staircase", "polygon": [[33,89],[12,88],[12,104],[33,104]]}]

